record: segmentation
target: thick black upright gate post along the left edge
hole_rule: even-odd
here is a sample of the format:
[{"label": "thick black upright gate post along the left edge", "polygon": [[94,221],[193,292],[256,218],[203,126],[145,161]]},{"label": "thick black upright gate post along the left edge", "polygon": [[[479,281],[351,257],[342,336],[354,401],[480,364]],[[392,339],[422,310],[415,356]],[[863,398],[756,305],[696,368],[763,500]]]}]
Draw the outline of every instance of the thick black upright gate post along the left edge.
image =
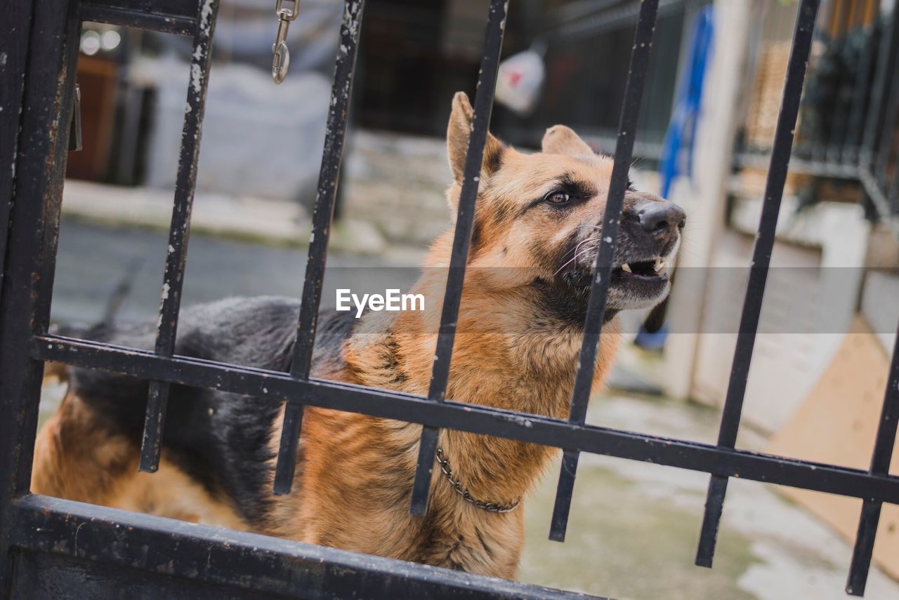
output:
[{"label": "thick black upright gate post along the left edge", "polygon": [[[28,0],[0,5],[0,31],[9,33],[0,73],[4,84],[13,85],[0,96],[0,155],[9,176],[3,180],[8,187],[0,190],[6,205],[0,227],[8,227],[0,264],[0,597],[11,595],[13,499],[31,483],[43,363],[22,349],[32,336],[44,334],[49,322],[75,93],[75,77],[66,75],[76,71],[80,38],[76,8],[75,2]],[[21,112],[4,114],[6,106]]]}]

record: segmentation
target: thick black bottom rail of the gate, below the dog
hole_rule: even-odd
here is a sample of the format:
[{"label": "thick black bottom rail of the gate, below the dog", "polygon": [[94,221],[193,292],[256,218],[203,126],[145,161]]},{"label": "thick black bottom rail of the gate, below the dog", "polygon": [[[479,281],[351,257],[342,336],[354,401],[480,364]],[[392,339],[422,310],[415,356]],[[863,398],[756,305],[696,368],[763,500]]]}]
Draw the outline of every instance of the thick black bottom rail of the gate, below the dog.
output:
[{"label": "thick black bottom rail of the gate, below the dog", "polygon": [[595,597],[47,496],[25,496],[12,508],[10,541],[17,547],[260,594],[293,598]]}]

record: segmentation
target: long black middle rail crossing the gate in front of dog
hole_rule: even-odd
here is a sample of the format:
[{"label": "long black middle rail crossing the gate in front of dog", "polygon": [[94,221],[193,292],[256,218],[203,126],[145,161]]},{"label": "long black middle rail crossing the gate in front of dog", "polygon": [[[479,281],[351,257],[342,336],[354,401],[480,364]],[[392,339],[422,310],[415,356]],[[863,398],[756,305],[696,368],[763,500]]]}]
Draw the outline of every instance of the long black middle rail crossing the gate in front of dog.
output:
[{"label": "long black middle rail crossing the gate in front of dog", "polygon": [[255,396],[260,401],[280,403],[285,398],[302,398],[310,406],[899,504],[899,477],[872,475],[867,471],[832,464],[577,425],[562,419],[476,404],[449,400],[432,402],[423,396],[361,385],[316,378],[302,381],[278,371],[227,365],[200,358],[158,357],[147,350],[61,336],[33,338],[29,352],[31,357],[40,360],[101,369],[140,379],[159,379],[209,390],[241,393]]}]

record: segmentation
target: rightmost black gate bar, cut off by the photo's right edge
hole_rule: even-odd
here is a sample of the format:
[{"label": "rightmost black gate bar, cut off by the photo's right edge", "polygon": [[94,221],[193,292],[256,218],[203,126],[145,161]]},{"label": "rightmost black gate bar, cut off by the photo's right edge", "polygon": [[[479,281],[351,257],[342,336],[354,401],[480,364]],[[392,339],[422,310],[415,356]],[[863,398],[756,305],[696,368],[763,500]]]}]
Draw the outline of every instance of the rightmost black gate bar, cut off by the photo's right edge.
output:
[{"label": "rightmost black gate bar, cut off by the photo's right edge", "polygon": [[[877,426],[874,453],[871,455],[869,472],[872,475],[886,475],[890,471],[890,458],[893,455],[893,446],[896,441],[897,422],[899,422],[899,326],[896,327],[890,374],[886,379],[884,405],[880,411],[880,424]],[[871,565],[871,555],[874,552],[874,538],[877,536],[877,524],[880,521],[882,504],[882,502],[869,499],[862,504],[859,533],[855,537],[855,548],[852,551],[852,563],[846,582],[846,593],[851,596],[864,596],[865,594],[865,584],[868,581],[868,569]]]}]

